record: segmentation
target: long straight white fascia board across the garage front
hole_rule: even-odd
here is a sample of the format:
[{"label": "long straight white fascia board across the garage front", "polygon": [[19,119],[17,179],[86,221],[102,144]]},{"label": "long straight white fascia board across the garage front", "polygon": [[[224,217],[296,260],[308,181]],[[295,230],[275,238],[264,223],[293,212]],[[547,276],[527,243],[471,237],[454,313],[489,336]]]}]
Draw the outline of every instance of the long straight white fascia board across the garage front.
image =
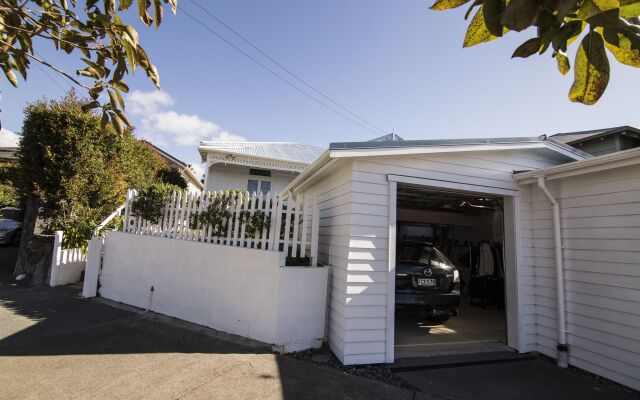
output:
[{"label": "long straight white fascia board across the garage front", "polygon": [[[379,149],[349,149],[331,150],[331,158],[347,157],[375,157],[375,156],[402,156],[409,154],[433,154],[433,153],[462,153],[469,151],[495,151],[517,149],[543,149],[548,147],[545,142],[532,143],[503,143],[503,144],[473,144],[462,146],[425,146],[425,147],[385,147]],[[555,149],[554,149],[555,150]]]}]

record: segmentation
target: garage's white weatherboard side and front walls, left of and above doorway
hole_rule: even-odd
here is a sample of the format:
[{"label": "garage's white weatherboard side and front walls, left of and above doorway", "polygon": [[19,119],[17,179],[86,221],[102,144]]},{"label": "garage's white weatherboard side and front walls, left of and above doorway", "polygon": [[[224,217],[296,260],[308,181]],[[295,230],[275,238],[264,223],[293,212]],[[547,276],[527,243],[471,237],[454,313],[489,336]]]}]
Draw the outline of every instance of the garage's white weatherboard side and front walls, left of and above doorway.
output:
[{"label": "garage's white weatherboard side and front walls, left of and above doorway", "polygon": [[306,188],[321,204],[321,255],[332,266],[328,338],[338,358],[344,364],[388,360],[389,174],[517,194],[514,170],[561,162],[530,150],[376,156],[346,161]]}]

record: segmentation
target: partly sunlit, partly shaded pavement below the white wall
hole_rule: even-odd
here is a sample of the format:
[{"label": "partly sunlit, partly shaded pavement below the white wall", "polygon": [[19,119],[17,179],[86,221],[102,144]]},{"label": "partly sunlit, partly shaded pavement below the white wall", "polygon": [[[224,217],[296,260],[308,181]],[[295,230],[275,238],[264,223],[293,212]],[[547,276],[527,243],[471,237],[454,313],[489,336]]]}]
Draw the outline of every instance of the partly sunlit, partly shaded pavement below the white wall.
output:
[{"label": "partly sunlit, partly shaded pavement below the white wall", "polygon": [[0,271],[3,400],[428,398],[80,291],[17,286]]}]

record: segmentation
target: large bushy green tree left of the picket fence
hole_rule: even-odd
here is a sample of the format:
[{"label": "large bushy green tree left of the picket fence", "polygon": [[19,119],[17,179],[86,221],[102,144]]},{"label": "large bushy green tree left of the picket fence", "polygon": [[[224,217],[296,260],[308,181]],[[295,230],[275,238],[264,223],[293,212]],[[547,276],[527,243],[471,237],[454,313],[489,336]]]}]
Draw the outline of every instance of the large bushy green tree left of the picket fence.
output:
[{"label": "large bushy green tree left of the picket fence", "polygon": [[168,168],[130,130],[103,128],[84,104],[74,93],[29,104],[18,150],[22,196],[40,200],[46,231],[64,230],[71,247],[124,203],[127,188],[145,189]]}]

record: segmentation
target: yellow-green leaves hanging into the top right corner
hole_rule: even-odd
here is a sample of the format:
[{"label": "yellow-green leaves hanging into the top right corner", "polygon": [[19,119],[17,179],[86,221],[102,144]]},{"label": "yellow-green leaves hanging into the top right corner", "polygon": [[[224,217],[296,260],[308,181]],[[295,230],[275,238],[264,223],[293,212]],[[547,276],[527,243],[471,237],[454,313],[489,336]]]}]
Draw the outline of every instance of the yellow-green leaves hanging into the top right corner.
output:
[{"label": "yellow-green leaves hanging into the top right corner", "polygon": [[[436,0],[431,9],[447,10],[471,1]],[[595,104],[605,92],[610,75],[606,50],[618,62],[640,67],[640,0],[474,0],[465,18],[476,7],[463,47],[534,27],[536,36],[512,57],[551,49],[563,75],[571,69],[567,50],[584,32],[574,59],[571,101]]]}]

